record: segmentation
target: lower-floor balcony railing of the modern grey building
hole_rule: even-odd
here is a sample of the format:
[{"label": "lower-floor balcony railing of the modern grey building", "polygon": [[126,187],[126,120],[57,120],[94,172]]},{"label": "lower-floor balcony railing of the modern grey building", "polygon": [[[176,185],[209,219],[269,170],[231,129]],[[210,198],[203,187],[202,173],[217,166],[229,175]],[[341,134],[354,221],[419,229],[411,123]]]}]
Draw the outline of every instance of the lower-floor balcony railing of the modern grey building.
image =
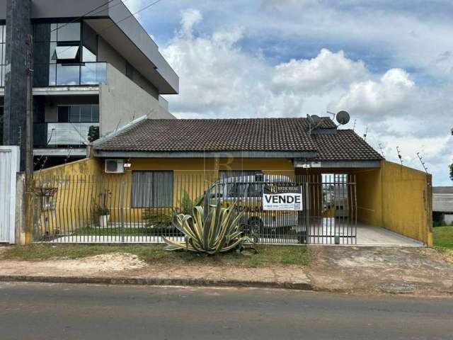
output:
[{"label": "lower-floor balcony railing of the modern grey building", "polygon": [[90,126],[99,126],[99,123],[35,123],[33,144],[35,147],[83,147],[88,144]]}]

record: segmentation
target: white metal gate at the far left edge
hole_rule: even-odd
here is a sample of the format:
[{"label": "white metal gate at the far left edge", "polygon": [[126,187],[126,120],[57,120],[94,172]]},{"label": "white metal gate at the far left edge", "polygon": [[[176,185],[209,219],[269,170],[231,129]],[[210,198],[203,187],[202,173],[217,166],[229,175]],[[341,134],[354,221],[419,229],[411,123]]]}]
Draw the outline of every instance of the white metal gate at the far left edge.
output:
[{"label": "white metal gate at the far left edge", "polygon": [[19,147],[0,146],[0,242],[14,243]]}]

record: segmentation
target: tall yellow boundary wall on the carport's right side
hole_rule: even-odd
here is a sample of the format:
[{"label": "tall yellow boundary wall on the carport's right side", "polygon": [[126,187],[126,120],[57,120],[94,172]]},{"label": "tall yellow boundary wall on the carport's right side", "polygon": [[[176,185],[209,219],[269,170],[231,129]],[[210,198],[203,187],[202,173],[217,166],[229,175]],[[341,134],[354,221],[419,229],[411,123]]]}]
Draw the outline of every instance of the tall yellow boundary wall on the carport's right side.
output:
[{"label": "tall yellow boundary wall on the carport's right side", "polygon": [[357,218],[432,246],[431,177],[382,161],[380,169],[356,174]]}]

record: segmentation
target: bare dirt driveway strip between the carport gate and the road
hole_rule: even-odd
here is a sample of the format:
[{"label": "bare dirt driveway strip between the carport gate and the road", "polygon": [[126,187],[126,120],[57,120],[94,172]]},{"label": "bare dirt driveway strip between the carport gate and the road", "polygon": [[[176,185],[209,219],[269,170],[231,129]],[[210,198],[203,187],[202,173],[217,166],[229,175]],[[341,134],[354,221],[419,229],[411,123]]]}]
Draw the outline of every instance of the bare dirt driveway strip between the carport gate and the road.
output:
[{"label": "bare dirt driveway strip between the carport gate and the road", "polygon": [[453,294],[453,266],[435,249],[314,246],[308,276],[316,289]]}]

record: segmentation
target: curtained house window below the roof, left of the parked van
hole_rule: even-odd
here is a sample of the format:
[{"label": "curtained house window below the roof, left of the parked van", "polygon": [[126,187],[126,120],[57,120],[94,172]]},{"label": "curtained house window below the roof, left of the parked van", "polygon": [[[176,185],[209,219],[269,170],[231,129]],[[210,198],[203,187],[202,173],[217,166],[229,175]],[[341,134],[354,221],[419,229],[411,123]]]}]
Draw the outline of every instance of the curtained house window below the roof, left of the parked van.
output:
[{"label": "curtained house window below the roof, left of the parked van", "polygon": [[173,171],[132,171],[132,208],[173,206]]}]

